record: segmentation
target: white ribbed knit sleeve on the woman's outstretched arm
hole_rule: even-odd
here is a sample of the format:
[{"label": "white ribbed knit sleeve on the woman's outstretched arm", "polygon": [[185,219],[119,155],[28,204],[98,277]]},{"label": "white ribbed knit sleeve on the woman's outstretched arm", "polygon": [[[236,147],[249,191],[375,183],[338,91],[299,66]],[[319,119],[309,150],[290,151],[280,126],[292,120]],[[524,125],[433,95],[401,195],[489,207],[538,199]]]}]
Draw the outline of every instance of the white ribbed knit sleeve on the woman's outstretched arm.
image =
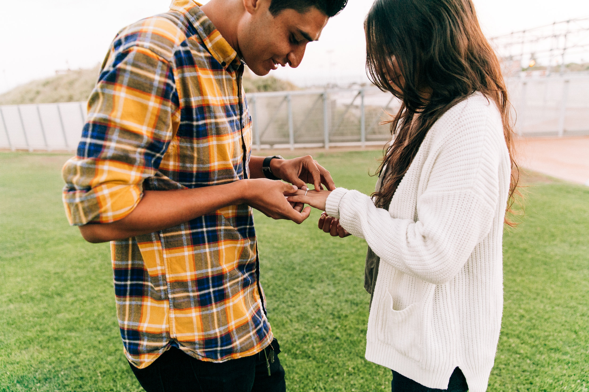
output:
[{"label": "white ribbed knit sleeve on the woman's outstretched arm", "polygon": [[369,196],[345,189],[329,196],[327,213],[365,238],[381,262],[426,282],[448,282],[487,236],[497,210],[502,150],[492,125],[485,113],[468,111],[436,122],[430,132],[438,135],[421,163],[431,165],[429,178],[419,179],[426,184],[421,194],[405,195],[403,182],[396,190],[396,198],[417,198],[416,220],[393,217]]}]

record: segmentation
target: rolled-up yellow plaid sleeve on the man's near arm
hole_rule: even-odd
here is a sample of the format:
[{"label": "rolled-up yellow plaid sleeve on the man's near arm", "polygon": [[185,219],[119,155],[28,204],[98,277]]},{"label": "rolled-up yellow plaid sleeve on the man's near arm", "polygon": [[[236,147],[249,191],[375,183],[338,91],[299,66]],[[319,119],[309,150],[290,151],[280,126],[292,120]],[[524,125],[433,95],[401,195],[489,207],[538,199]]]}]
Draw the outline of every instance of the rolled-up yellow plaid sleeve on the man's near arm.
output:
[{"label": "rolled-up yellow plaid sleeve on the man's near arm", "polygon": [[62,169],[70,225],[110,223],[129,215],[180,122],[170,62],[140,46],[115,47],[88,100],[77,155]]}]

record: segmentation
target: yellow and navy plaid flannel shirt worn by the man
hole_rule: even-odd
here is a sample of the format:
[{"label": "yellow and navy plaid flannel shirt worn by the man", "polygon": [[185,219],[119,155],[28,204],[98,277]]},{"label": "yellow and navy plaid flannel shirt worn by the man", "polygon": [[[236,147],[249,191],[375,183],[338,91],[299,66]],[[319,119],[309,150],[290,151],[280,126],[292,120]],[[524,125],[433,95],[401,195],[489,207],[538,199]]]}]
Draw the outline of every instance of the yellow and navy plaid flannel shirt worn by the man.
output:
[{"label": "yellow and navy plaid flannel shirt worn by the man", "polygon": [[[144,190],[247,177],[252,127],[242,74],[236,51],[191,0],[119,32],[77,156],[63,169],[71,225],[120,220]],[[272,341],[251,207],[113,241],[111,253],[121,336],[135,366],[171,346],[224,361]]]}]

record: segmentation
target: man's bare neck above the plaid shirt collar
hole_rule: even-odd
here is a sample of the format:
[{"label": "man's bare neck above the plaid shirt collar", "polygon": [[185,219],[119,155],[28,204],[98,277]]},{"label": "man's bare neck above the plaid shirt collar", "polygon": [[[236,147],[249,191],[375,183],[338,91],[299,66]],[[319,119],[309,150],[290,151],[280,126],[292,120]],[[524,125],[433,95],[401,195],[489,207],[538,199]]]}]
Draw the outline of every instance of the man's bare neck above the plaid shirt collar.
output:
[{"label": "man's bare neck above the plaid shirt collar", "polygon": [[237,25],[246,9],[241,0],[210,0],[200,7],[204,15],[213,22],[221,36],[229,42],[237,55],[241,57],[239,40],[237,39]]}]

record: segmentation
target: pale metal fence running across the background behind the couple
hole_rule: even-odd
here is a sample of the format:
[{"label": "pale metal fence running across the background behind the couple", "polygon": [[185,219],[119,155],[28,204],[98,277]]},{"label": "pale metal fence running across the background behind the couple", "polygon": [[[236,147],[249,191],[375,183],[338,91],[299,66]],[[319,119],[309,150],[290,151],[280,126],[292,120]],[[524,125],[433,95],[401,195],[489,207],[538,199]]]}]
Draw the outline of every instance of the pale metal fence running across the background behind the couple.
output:
[{"label": "pale metal fence running across the background behind the couple", "polygon": [[[588,135],[589,75],[522,73],[507,79],[524,136]],[[374,87],[247,94],[254,149],[383,145],[400,102]],[[85,102],[0,106],[0,148],[76,148]]]}]

